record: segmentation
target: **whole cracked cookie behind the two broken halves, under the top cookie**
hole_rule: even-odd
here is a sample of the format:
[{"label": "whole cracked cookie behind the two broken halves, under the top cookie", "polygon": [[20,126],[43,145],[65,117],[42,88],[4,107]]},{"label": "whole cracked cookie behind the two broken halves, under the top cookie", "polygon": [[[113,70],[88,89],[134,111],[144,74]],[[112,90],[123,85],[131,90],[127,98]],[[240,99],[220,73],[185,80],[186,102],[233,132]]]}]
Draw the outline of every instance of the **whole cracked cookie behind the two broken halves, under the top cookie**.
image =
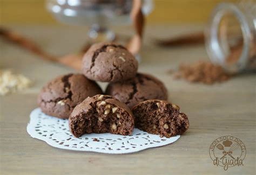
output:
[{"label": "whole cracked cookie behind the two broken halves, under the top cookie", "polygon": [[164,84],[149,74],[137,73],[136,77],[127,81],[110,83],[106,94],[116,97],[129,108],[145,100],[167,100]]}]

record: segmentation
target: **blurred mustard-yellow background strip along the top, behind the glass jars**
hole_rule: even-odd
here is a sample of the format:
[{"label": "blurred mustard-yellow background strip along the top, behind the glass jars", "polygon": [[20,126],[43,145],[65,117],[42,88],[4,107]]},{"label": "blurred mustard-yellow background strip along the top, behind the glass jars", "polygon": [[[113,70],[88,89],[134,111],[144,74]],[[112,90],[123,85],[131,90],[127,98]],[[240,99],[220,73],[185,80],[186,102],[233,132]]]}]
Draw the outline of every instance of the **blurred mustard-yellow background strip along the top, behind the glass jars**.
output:
[{"label": "blurred mustard-yellow background strip along the top, behind the glass jars", "polygon": [[[154,10],[147,17],[156,23],[204,23],[220,2],[237,0],[155,0]],[[0,0],[2,24],[58,24],[45,9],[45,0]]]}]

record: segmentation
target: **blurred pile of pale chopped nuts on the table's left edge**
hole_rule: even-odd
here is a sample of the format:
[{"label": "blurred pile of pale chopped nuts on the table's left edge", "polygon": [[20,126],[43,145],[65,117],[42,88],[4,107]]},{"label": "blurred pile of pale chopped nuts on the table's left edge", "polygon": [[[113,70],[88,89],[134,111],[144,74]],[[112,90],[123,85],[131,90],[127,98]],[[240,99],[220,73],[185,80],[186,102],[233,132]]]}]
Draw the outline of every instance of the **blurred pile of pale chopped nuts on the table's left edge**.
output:
[{"label": "blurred pile of pale chopped nuts on the table's left edge", "polygon": [[21,74],[14,74],[8,69],[0,69],[0,95],[24,90],[32,85],[32,81]]}]

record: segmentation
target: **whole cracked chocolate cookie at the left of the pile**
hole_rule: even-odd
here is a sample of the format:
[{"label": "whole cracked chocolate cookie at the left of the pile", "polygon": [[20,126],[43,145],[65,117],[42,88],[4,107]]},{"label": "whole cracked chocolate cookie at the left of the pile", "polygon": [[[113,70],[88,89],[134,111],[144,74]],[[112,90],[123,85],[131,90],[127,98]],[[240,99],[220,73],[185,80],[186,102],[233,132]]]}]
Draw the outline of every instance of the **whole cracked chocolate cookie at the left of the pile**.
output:
[{"label": "whole cracked chocolate cookie at the left of the pile", "polygon": [[86,97],[102,94],[96,82],[82,74],[58,76],[41,90],[38,104],[43,113],[58,118],[69,118],[73,108]]}]

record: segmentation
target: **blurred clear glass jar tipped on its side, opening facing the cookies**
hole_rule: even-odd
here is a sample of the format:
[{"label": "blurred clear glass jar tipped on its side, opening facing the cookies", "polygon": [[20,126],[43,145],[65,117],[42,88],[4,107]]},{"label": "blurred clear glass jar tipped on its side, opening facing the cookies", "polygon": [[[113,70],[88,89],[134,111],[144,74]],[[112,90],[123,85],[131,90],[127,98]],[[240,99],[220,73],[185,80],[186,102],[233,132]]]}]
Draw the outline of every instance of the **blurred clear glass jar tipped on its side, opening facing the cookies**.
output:
[{"label": "blurred clear glass jar tipped on its side, opening facing the cookies", "polygon": [[220,3],[205,29],[208,56],[227,72],[256,70],[256,2]]}]

